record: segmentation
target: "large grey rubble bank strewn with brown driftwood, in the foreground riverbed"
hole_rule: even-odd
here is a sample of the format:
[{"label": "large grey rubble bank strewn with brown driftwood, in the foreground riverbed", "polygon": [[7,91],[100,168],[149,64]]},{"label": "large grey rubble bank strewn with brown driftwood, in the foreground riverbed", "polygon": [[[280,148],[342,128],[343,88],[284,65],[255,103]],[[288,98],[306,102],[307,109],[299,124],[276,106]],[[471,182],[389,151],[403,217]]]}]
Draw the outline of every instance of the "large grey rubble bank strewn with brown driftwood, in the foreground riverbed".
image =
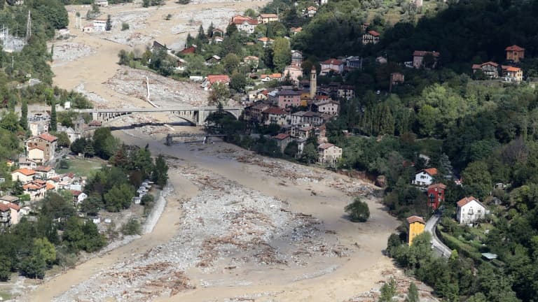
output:
[{"label": "large grey rubble bank strewn with brown driftwood, in the foreground riverbed", "polygon": [[291,212],[280,199],[180,164],[172,163],[176,173],[200,193],[181,201],[177,236],[97,273],[55,301],[150,301],[193,288],[184,275],[189,268],[204,273],[243,264],[286,268],[308,265],[314,257],[347,256],[336,233],[326,231],[316,217]]}]

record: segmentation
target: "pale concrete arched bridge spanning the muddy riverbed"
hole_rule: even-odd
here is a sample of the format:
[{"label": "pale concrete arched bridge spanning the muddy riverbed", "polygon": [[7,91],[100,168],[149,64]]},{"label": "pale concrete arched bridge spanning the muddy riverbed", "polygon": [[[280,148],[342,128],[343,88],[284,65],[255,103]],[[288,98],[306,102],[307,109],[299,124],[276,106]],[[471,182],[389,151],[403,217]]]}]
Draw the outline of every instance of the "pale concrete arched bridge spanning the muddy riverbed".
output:
[{"label": "pale concrete arched bridge spanning the muddy riverbed", "polygon": [[[176,115],[195,126],[204,124],[207,117],[218,111],[215,107],[162,107],[162,108],[125,108],[125,109],[78,109],[74,110],[78,113],[91,113],[92,119],[102,123],[112,122],[118,117],[131,115],[132,113],[171,113]],[[242,107],[223,107],[222,110],[236,119],[239,119],[243,113]]]}]

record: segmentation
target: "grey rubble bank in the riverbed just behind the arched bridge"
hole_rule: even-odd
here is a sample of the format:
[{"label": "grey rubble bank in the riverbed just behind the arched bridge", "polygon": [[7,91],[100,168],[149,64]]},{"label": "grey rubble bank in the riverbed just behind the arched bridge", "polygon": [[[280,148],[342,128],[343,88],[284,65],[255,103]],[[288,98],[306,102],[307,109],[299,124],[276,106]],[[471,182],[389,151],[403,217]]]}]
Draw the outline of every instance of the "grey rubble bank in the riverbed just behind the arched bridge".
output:
[{"label": "grey rubble bank in the riverbed just behind the arched bridge", "polygon": [[150,71],[122,66],[105,84],[120,94],[146,100],[146,77],[149,78],[150,99],[158,106],[207,106],[209,94],[198,84],[179,82]]}]

